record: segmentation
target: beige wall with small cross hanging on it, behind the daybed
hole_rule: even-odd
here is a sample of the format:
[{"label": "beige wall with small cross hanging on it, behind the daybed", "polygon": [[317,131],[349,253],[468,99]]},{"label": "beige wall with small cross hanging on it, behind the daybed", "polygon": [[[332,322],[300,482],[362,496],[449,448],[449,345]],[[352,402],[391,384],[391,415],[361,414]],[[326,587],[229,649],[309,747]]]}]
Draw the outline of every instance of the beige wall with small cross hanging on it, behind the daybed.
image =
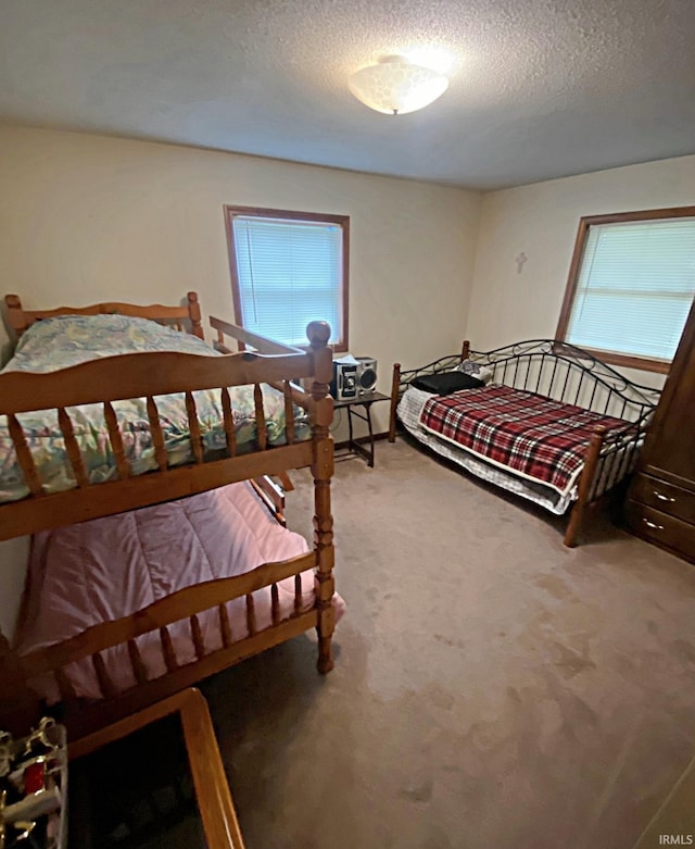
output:
[{"label": "beige wall with small cross hanging on it, behind the daybed", "polygon": [[[473,347],[553,337],[582,215],[695,203],[695,157],[629,165],[483,196],[468,311]],[[517,273],[515,259],[528,260]],[[630,372],[642,383],[662,378]]]}]

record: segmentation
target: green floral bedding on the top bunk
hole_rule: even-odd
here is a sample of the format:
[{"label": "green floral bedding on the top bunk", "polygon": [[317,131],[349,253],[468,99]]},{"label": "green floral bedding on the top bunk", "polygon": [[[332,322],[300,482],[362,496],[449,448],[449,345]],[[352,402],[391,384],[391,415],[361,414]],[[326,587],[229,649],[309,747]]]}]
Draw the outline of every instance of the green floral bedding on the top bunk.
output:
[{"label": "green floral bedding on the top bunk", "polygon": [[[3,372],[54,372],[90,360],[116,354],[179,351],[202,357],[218,357],[204,341],[178,333],[147,319],[125,315],[64,315],[34,324],[22,337]],[[285,398],[263,386],[263,403],[268,444],[286,442]],[[229,389],[237,447],[251,450],[256,439],[253,387]],[[193,392],[205,452],[224,450],[226,437],[219,390]],[[164,433],[168,463],[172,466],[193,462],[184,394],[156,396],[155,402]],[[157,467],[146,399],[135,398],[113,404],[132,474]],[[68,408],[77,442],[92,484],[117,477],[115,458],[101,404]],[[295,438],[311,435],[303,410],[295,408]],[[55,410],[17,415],[31,451],[37,473],[47,492],[72,489],[76,482],[65,451]],[[7,419],[0,416],[0,502],[16,501],[29,492],[20,469]]]}]

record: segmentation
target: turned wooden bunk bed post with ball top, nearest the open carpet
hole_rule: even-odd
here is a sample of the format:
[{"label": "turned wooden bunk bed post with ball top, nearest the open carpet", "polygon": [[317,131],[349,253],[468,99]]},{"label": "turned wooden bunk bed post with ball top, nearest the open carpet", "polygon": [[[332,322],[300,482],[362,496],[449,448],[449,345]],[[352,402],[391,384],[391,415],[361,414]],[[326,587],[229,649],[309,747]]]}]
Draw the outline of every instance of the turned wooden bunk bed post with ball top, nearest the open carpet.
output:
[{"label": "turned wooden bunk bed post with ball top, nearest the open carpet", "polygon": [[328,384],[333,376],[332,351],[328,348],[330,327],[326,322],[312,322],[306,328],[309,349],[314,354],[314,383],[311,394],[312,435],[314,441],[314,550],[316,552],[315,592],[318,619],[317,669],[325,675],[333,669],[330,641],[336,627],[333,610],[333,517],[330,512],[330,479],[333,474],[333,438],[329,426],[333,419],[333,401]]}]

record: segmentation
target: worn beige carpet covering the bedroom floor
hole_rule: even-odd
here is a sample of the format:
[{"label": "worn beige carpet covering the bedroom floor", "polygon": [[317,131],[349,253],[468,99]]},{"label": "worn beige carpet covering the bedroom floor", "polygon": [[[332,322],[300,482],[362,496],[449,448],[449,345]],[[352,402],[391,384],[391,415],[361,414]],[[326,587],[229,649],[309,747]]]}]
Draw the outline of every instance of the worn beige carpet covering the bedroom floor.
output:
[{"label": "worn beige carpet covering the bedroom floor", "polygon": [[334,671],[299,637],[204,688],[249,849],[632,847],[694,752],[695,570],[605,522],[566,549],[402,440],[333,514]]}]

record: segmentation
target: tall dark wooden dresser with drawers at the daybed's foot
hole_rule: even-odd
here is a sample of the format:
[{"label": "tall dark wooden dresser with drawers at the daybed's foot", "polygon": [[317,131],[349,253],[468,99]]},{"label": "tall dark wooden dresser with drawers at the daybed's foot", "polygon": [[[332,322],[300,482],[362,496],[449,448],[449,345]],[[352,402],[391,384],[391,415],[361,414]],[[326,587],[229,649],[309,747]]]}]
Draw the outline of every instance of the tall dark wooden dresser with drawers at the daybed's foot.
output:
[{"label": "tall dark wooden dresser with drawers at the daybed's foot", "polygon": [[628,494],[627,523],[695,563],[695,302]]}]

